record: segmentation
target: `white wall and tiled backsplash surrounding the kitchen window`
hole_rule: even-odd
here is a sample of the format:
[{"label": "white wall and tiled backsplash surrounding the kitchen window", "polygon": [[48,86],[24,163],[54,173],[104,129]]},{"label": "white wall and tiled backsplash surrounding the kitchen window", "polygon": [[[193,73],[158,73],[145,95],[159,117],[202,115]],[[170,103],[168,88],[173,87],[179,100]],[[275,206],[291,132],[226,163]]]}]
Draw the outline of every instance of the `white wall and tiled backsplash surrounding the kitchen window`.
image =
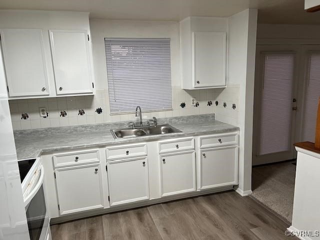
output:
[{"label": "white wall and tiled backsplash surrounding the kitchen window", "polygon": [[[179,49],[179,23],[173,21],[129,21],[90,19],[92,39],[93,67],[95,76],[95,96],[53,97],[10,100],[12,125],[14,129],[29,129],[39,127],[93,124],[119,120],[133,120],[134,114],[109,114],[108,90],[106,78],[106,62],[104,50],[104,37],[169,37],[171,39],[171,80],[172,80],[172,110],[143,113],[145,117],[182,116],[193,114],[213,113],[215,108],[219,111],[222,103],[223,120],[237,124],[237,108],[231,108],[232,103],[237,105],[238,85],[230,84],[224,93],[221,89],[182,90],[180,72]],[[191,106],[191,97],[199,102],[198,107]],[[215,107],[215,99],[219,105]],[[212,105],[208,106],[207,101]],[[181,108],[180,103],[185,102],[186,107]],[[38,107],[45,106],[49,116],[39,116]],[[101,114],[95,109],[101,107]],[[84,109],[84,115],[78,115],[78,110]],[[60,110],[66,110],[67,116],[60,117]],[[133,111],[134,109],[132,109]],[[143,109],[142,109],[143,111]],[[21,112],[29,113],[28,119],[21,119]]]}]

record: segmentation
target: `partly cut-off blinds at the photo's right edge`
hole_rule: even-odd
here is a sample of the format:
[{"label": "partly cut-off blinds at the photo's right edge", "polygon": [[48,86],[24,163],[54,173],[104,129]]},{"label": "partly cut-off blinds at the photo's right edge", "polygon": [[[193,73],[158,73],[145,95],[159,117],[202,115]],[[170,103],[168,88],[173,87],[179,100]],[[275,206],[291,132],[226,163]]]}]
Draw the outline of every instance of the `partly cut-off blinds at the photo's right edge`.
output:
[{"label": "partly cut-off blinds at the photo's right edge", "polygon": [[303,102],[302,141],[314,142],[316,112],[320,96],[320,52],[308,57],[307,85]]}]

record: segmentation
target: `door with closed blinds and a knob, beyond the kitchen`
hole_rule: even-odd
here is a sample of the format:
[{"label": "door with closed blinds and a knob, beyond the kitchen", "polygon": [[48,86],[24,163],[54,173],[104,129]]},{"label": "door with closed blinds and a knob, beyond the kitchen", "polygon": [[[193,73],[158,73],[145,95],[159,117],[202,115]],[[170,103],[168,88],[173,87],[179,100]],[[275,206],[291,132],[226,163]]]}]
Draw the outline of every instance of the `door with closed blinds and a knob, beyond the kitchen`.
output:
[{"label": "door with closed blinds and a knob, beyond the kitchen", "polygon": [[294,48],[257,48],[253,165],[295,157],[298,53]]}]

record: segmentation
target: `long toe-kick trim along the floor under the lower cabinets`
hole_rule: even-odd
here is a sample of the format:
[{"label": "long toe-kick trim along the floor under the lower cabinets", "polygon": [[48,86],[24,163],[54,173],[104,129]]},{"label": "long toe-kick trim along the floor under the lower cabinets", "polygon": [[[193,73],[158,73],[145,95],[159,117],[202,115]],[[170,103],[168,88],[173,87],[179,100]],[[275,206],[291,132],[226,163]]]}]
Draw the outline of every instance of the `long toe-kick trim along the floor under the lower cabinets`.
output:
[{"label": "long toe-kick trim along the floor under the lower cabinets", "polygon": [[145,200],[145,201],[140,201],[140,202],[133,202],[133,203],[123,204],[123,205],[118,205],[118,206],[112,206],[110,208],[102,208],[102,209],[100,208],[100,209],[95,209],[95,210],[73,213],[73,214],[69,214],[69,215],[62,215],[62,216],[51,218],[50,225],[62,223],[62,222],[66,222],[66,221],[71,221],[71,220],[75,220],[75,219],[90,217],[90,216],[102,215],[102,214],[116,212],[116,211],[123,211],[123,210],[128,210],[128,209],[133,209],[133,208],[138,208],[138,207],[143,207],[143,206],[148,206],[148,205],[153,205],[153,204],[158,204],[158,203],[163,203],[163,202],[167,202],[167,201],[183,200],[184,198],[188,198],[188,197],[207,195],[207,194],[212,194],[212,193],[228,191],[228,190],[232,190],[232,189],[233,189],[233,186],[222,186],[222,187],[216,187],[214,189],[194,191],[194,192],[188,192],[188,193],[184,193],[184,194],[170,195],[170,196],[164,196],[164,197],[156,198],[156,199],[150,199],[150,200]]}]

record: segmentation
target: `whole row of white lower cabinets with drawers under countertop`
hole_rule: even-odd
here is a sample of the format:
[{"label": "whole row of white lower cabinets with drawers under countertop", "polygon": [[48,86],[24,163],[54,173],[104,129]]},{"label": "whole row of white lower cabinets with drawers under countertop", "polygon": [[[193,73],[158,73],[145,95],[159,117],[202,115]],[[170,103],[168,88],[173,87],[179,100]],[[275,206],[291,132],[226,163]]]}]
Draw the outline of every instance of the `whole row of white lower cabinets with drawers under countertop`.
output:
[{"label": "whole row of white lower cabinets with drawers under countertop", "polygon": [[47,177],[57,193],[48,198],[53,217],[230,189],[238,184],[237,134],[196,136],[195,144],[187,137],[50,155],[52,162],[44,165],[56,178]]}]

